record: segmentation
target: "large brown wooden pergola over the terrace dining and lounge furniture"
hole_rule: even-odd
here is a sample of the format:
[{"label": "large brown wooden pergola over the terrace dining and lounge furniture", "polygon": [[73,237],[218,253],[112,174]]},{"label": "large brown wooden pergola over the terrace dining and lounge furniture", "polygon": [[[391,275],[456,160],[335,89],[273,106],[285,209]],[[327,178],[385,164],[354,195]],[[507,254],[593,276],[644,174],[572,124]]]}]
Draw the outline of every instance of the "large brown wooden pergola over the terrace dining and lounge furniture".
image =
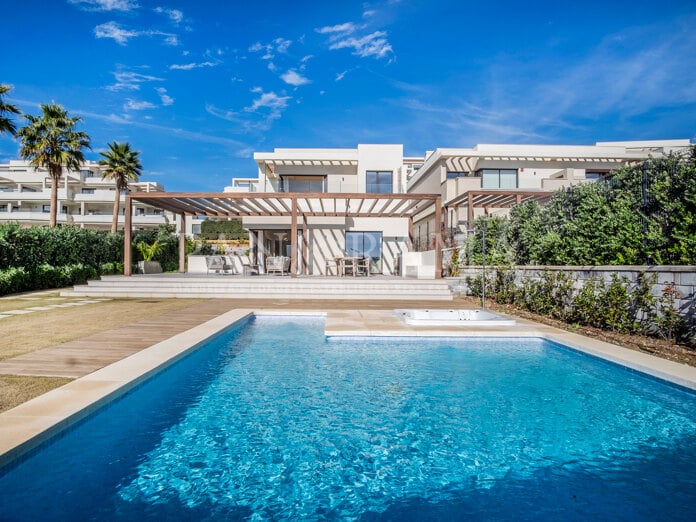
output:
[{"label": "large brown wooden pergola over the terrace dining and lounge furniture", "polygon": [[[131,275],[133,201],[160,208],[181,217],[179,272],[185,272],[186,216],[243,218],[273,216],[290,218],[290,275],[297,277],[297,233],[302,229],[303,257],[307,253],[307,218],[402,217],[409,220],[409,245],[413,244],[413,222],[417,216],[435,214],[435,277],[442,274],[442,197],[440,194],[341,194],[285,192],[132,192],[126,195],[123,272]],[[434,207],[434,208],[433,208]],[[410,246],[409,246],[410,248]]]}]

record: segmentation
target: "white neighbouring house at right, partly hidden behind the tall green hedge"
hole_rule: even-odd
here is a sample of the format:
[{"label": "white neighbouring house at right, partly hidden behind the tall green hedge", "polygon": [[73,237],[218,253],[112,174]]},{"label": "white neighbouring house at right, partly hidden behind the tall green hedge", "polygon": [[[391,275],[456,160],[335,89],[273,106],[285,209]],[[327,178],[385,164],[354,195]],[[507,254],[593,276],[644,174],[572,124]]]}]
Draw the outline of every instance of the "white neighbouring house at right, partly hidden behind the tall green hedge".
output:
[{"label": "white neighbouring house at right, partly hidden behind the tall green hedge", "polygon": [[[689,146],[688,139],[678,139],[436,149],[408,177],[406,192],[439,192],[446,232],[456,236],[479,216],[504,215],[530,199],[543,202],[561,188],[597,181],[621,166]],[[417,242],[428,239],[429,223],[417,224]]]}]

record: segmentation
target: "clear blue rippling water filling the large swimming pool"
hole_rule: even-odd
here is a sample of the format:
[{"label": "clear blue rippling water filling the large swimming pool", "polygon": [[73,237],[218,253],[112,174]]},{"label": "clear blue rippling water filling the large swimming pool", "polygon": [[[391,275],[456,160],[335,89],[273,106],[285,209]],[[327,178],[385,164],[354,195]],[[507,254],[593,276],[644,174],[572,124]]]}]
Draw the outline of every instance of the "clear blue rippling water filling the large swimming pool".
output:
[{"label": "clear blue rippling water filling the large swimming pool", "polygon": [[687,520],[694,394],[542,340],[215,338],[0,476],[2,520]]}]

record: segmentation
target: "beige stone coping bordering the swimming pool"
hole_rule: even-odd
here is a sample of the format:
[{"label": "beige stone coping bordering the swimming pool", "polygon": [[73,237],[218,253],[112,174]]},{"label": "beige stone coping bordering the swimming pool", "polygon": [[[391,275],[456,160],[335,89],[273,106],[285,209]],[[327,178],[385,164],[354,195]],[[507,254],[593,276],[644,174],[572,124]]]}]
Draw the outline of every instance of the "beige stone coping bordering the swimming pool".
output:
[{"label": "beige stone coping bordering the swimming pool", "polygon": [[0,467],[127,393],[203,342],[251,316],[324,316],[327,337],[533,337],[547,339],[696,391],[696,368],[518,319],[513,327],[415,326],[394,310],[235,309],[0,413]]}]

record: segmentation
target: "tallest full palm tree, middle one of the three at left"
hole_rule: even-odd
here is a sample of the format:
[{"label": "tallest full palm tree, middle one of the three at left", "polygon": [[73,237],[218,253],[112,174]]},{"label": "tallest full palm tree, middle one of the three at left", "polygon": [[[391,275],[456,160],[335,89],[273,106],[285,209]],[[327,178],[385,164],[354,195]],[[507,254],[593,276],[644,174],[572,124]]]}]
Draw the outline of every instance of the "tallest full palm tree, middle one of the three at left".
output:
[{"label": "tallest full palm tree, middle one of the three at left", "polygon": [[41,105],[41,112],[41,116],[24,115],[29,123],[17,132],[20,139],[19,155],[34,167],[48,169],[51,176],[49,226],[54,227],[58,212],[58,183],[63,175],[63,167],[80,169],[85,161],[82,149],[90,148],[89,136],[75,130],[75,125],[82,119],[68,116],[67,111],[57,103]]}]

